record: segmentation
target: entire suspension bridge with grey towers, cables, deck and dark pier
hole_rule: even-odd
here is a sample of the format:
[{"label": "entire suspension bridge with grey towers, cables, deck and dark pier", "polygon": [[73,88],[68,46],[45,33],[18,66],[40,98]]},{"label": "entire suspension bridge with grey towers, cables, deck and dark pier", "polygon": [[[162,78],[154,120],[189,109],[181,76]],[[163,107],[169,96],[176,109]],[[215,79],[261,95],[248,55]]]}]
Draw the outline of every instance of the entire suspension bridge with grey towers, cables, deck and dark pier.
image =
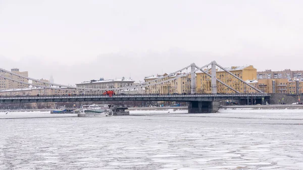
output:
[{"label": "entire suspension bridge with grey towers, cables, deck and dark pier", "polygon": [[[211,69],[208,67],[211,66]],[[245,84],[247,87],[255,90],[255,93],[241,93],[238,90],[234,89],[233,87],[227,85],[222,80],[217,79],[216,77],[216,70],[217,67],[225,71],[227,74],[231,75],[235,80],[241,82],[243,85]],[[187,69],[190,68],[190,71],[187,72]],[[179,74],[182,71],[186,70],[186,73]],[[207,76],[211,78],[211,94],[196,94],[196,72],[203,72]],[[211,74],[209,74],[209,72]],[[215,61],[203,66],[198,67],[194,63],[190,64],[183,69],[175,71],[171,74],[168,74],[163,77],[156,78],[155,80],[151,80],[148,82],[143,82],[136,85],[125,86],[125,87],[118,87],[118,88],[83,88],[83,87],[74,87],[74,86],[67,86],[62,84],[55,84],[49,82],[43,82],[37,79],[25,77],[22,75],[18,75],[16,73],[0,69],[0,73],[6,73],[10,75],[17,76],[19,78],[31,80],[33,82],[42,83],[43,86],[32,84],[28,82],[22,82],[19,80],[14,80],[10,77],[4,76],[4,74],[0,74],[0,78],[4,78],[13,82],[17,82],[20,84],[26,84],[29,86],[39,87],[43,89],[52,89],[52,90],[66,90],[66,91],[77,91],[78,94],[82,94],[83,92],[96,92],[97,94],[102,94],[102,92],[106,90],[114,90],[116,92],[126,89],[138,89],[138,88],[148,88],[153,87],[155,85],[162,85],[165,83],[170,83],[176,79],[182,78],[184,76],[190,75],[190,94],[187,95],[180,95],[180,94],[135,94],[135,95],[114,95],[114,96],[107,96],[107,95],[76,95],[76,96],[1,96],[0,97],[0,104],[9,104],[9,103],[31,103],[31,102],[78,102],[78,101],[184,101],[189,102],[189,112],[215,112],[219,107],[219,101],[222,100],[241,100],[247,101],[248,103],[263,103],[264,101],[268,101],[270,95],[263,93],[258,88],[246,83],[240,77],[229,72],[226,68],[220,66]],[[227,88],[231,89],[233,93],[229,94],[218,94],[217,93],[217,84],[226,86]],[[86,93],[87,94],[87,93]],[[1,94],[0,94],[1,95]]]}]

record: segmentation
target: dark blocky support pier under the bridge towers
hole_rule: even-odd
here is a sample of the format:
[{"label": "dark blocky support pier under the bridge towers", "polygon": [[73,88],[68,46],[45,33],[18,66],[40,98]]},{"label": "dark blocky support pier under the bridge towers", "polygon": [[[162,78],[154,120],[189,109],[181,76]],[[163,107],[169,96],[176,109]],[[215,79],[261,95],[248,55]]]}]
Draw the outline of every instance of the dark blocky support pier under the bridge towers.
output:
[{"label": "dark blocky support pier under the bridge towers", "polygon": [[188,102],[189,114],[207,114],[219,110],[220,101],[190,101]]}]

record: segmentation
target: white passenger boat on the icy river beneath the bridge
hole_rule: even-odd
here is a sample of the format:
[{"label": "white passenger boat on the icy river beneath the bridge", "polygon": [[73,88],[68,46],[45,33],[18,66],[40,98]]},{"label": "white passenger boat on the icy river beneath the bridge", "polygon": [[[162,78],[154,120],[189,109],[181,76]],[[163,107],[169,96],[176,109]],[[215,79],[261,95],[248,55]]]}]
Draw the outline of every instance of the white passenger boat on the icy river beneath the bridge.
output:
[{"label": "white passenger boat on the icy river beneath the bridge", "polygon": [[96,104],[83,105],[78,117],[107,117],[112,116],[113,111],[109,107],[100,107]]}]

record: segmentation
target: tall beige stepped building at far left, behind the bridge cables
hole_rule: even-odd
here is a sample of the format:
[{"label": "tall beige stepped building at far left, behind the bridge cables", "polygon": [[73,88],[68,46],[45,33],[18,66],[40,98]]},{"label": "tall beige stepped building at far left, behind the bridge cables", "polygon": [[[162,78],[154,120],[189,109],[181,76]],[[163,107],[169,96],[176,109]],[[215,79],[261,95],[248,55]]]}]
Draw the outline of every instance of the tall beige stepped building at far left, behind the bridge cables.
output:
[{"label": "tall beige stepped building at far left, behind the bridge cables", "polygon": [[[28,72],[20,72],[19,69],[15,68],[15,69],[11,69],[11,72],[16,73],[18,75],[24,76],[24,77],[28,77]],[[0,74],[2,76],[8,77],[10,79],[14,79],[20,82],[25,82],[28,83],[28,79],[24,79],[21,78],[19,76],[15,76],[15,75],[11,75],[10,73],[5,73],[0,71]],[[0,90],[5,90],[5,89],[22,89],[22,88],[28,88],[28,85],[26,84],[21,84],[18,82],[14,82],[5,78],[0,78]]]}]

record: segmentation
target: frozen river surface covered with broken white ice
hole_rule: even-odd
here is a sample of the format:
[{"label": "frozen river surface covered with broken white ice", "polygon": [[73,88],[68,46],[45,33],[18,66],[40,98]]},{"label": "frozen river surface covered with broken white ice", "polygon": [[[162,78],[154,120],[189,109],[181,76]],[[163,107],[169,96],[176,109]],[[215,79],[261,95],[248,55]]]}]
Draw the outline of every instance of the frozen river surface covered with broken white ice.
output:
[{"label": "frozen river surface covered with broken white ice", "polygon": [[0,112],[0,169],[303,169],[301,113],[50,115]]}]

